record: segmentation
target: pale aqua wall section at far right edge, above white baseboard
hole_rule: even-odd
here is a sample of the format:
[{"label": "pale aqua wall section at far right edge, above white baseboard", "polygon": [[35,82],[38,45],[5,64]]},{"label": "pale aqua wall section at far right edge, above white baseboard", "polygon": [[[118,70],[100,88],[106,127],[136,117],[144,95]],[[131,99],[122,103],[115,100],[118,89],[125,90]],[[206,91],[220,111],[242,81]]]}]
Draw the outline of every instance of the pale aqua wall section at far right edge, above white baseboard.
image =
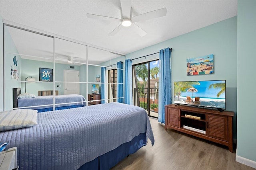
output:
[{"label": "pale aqua wall section at far right edge, above white baseboard", "polygon": [[238,1],[237,34],[237,155],[256,168],[256,1]]}]

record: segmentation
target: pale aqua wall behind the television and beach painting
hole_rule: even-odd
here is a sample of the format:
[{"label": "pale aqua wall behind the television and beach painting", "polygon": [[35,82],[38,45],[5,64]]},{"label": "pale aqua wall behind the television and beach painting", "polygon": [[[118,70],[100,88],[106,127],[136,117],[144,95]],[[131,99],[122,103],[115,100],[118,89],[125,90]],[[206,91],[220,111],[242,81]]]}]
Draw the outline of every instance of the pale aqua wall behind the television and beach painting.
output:
[{"label": "pale aqua wall behind the television and beach painting", "polygon": [[[172,48],[172,84],[174,81],[226,80],[226,110],[234,111],[233,131],[236,135],[236,66],[237,66],[237,17],[224,20],[167,41],[126,55],[126,59]],[[187,76],[186,59],[214,55],[214,74]],[[140,62],[152,60],[140,59]],[[159,58],[159,56],[157,56]],[[132,61],[138,63],[136,60]],[[173,95],[172,95],[173,96]],[[173,100],[172,100],[173,101]]]}]

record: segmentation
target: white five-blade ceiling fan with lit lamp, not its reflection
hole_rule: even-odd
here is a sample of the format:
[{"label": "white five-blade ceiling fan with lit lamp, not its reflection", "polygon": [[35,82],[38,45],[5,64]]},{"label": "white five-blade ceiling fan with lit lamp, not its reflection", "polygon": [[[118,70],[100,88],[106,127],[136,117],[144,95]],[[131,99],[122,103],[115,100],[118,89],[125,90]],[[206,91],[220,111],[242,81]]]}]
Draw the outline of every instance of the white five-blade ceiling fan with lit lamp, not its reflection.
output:
[{"label": "white five-blade ceiling fan with lit lamp, not its reflection", "polygon": [[99,19],[99,20],[106,20],[106,21],[116,21],[120,22],[121,24],[116,27],[110,34],[110,36],[115,35],[122,29],[122,27],[131,27],[131,29],[138,33],[141,37],[146,35],[147,33],[140,28],[138,25],[136,25],[134,22],[139,22],[139,21],[145,21],[145,20],[150,20],[153,18],[158,18],[162,16],[166,16],[166,8],[162,8],[159,10],[147,12],[144,14],[140,14],[138,16],[131,16],[132,15],[132,8],[131,8],[131,0],[120,0],[121,2],[121,19],[119,18],[112,18],[108,16],[100,16],[100,15],[95,15],[95,14],[86,14],[88,18],[93,18],[93,19]]}]

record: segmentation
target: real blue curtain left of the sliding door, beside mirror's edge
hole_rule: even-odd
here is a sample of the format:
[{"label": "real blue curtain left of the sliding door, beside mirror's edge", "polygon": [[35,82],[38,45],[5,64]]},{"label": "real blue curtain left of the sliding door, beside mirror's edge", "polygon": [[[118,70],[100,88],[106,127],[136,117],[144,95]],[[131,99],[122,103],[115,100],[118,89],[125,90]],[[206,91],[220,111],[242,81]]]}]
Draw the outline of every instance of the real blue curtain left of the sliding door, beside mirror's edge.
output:
[{"label": "real blue curtain left of the sliding door, beside mirror's edge", "polygon": [[130,59],[125,60],[124,103],[132,105],[132,61]]}]

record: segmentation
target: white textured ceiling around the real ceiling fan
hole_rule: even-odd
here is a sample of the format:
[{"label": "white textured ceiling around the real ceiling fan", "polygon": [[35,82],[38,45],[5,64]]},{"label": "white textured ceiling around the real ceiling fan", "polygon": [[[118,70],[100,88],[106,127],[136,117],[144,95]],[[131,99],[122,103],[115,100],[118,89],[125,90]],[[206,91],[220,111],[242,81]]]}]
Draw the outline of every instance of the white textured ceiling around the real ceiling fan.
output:
[{"label": "white textured ceiling around the real ceiling fan", "polygon": [[117,51],[132,53],[237,15],[237,0],[132,0],[132,16],[167,8],[164,17],[136,24],[147,34],[140,37],[129,27],[108,36],[120,23],[95,20],[87,13],[120,18],[119,0],[0,0],[4,20]]}]

